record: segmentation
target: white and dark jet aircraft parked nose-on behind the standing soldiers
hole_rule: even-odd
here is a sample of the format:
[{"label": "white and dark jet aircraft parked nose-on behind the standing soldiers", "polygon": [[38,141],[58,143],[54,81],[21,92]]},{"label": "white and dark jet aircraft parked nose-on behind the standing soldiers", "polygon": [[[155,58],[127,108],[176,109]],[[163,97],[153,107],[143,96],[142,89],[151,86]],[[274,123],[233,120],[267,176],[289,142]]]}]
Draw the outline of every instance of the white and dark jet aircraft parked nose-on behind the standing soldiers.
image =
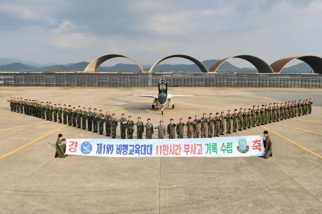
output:
[{"label": "white and dark jet aircraft parked nose-on behind the standing soldiers", "polygon": [[152,103],[152,109],[161,107],[161,115],[163,115],[163,110],[165,107],[169,107],[174,109],[174,104],[171,100],[172,97],[183,97],[183,96],[196,96],[196,95],[172,95],[167,91],[167,84],[165,78],[161,78],[158,84],[159,93],[154,95],[139,95],[133,94],[133,96],[144,96],[144,97],[152,97],[154,101]]}]

